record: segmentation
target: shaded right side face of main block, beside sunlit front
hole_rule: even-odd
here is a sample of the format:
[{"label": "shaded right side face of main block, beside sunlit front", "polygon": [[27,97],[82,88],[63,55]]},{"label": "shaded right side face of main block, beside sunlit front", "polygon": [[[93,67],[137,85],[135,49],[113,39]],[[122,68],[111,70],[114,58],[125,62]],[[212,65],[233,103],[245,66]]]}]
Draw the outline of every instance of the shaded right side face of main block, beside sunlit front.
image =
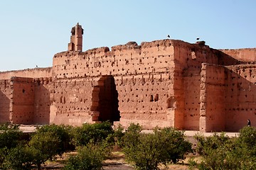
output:
[{"label": "shaded right side face of main block, beside sunlit front", "polygon": [[175,127],[199,130],[201,64],[237,64],[238,60],[207,45],[189,44],[175,40],[174,45],[174,86],[171,94],[175,99]]}]

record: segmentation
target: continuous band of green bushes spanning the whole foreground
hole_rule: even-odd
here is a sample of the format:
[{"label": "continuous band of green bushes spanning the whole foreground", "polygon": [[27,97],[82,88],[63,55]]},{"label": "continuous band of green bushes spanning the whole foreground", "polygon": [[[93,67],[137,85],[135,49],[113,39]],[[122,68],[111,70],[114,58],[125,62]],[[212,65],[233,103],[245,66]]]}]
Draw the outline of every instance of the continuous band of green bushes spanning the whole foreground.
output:
[{"label": "continuous band of green bushes spanning the whole foreground", "polygon": [[[45,125],[30,137],[23,137],[18,125],[0,125],[0,169],[41,169],[72,151],[61,169],[102,169],[103,162],[118,150],[134,169],[154,170],[181,163],[188,153],[199,159],[188,160],[189,169],[256,169],[256,128],[245,127],[238,137],[225,133],[210,137],[196,135],[197,145],[186,140],[182,131],[156,128],[142,132],[131,124],[112,128],[110,123],[84,124],[81,127]],[[187,159],[186,159],[187,160]]]}]

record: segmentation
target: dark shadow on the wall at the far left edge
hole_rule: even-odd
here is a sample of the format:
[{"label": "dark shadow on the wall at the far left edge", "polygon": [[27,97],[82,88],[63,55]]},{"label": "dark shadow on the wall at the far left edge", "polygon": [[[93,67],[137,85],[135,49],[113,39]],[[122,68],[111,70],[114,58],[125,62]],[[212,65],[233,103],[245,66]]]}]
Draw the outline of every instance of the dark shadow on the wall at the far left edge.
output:
[{"label": "dark shadow on the wall at the far left edge", "polygon": [[10,121],[10,99],[0,91],[0,123]]}]

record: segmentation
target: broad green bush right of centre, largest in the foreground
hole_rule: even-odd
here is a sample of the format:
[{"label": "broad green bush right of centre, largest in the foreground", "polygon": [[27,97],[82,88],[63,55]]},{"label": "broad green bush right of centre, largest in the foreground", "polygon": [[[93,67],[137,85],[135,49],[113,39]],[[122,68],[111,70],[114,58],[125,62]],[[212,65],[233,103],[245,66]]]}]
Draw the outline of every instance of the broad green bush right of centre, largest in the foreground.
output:
[{"label": "broad green bush right of centre, largest in the foreground", "polygon": [[127,161],[137,169],[158,169],[159,164],[178,162],[191,152],[191,143],[183,132],[173,128],[154,130],[154,134],[140,133],[142,127],[132,124],[124,133],[122,149]]}]

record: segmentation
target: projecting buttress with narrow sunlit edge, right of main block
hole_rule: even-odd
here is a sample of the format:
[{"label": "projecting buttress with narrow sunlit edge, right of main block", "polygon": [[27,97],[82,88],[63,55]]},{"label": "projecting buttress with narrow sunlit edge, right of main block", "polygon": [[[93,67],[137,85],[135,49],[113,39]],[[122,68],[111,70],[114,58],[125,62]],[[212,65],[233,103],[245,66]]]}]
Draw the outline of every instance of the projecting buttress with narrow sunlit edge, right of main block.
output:
[{"label": "projecting buttress with narrow sunlit edge, right of main block", "polygon": [[202,64],[200,101],[200,130],[224,131],[225,67]]}]

